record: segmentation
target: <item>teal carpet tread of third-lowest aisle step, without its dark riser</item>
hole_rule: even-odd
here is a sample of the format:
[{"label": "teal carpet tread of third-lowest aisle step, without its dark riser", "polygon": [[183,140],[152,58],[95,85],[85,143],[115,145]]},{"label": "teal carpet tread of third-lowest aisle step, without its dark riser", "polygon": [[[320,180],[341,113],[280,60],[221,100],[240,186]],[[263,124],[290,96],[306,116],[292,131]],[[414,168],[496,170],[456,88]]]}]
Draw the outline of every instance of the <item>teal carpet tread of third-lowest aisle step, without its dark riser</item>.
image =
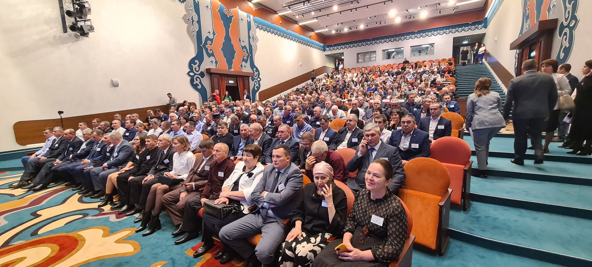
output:
[{"label": "teal carpet tread of third-lowest aisle step, without its dark riser", "polygon": [[592,209],[592,187],[489,176],[471,178],[471,192]]}]

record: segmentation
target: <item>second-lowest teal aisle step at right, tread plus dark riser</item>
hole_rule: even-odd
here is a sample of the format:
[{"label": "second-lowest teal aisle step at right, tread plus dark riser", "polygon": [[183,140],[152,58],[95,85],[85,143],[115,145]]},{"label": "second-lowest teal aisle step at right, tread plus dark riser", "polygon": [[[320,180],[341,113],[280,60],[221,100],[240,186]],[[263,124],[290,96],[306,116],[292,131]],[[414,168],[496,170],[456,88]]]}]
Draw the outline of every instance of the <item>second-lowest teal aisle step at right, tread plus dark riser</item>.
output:
[{"label": "second-lowest teal aisle step at right, tread plus dark riser", "polygon": [[464,242],[565,266],[592,266],[592,220],[472,202],[467,211],[451,210],[450,228],[451,237]]}]

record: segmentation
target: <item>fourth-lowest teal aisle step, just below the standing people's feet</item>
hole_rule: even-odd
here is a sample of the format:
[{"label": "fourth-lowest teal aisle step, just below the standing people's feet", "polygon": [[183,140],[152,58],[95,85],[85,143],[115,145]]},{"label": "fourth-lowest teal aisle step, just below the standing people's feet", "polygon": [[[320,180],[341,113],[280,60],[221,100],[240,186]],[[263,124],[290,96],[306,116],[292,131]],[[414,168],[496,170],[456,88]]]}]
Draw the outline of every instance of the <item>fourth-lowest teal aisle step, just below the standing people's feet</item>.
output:
[{"label": "fourth-lowest teal aisle step, just below the standing people's feet", "polygon": [[[477,157],[471,156],[471,160],[476,168]],[[519,166],[503,157],[489,157],[488,162],[487,169],[493,176],[592,186],[592,166],[589,164],[552,161],[533,164],[532,160],[525,160],[525,165]]]}]

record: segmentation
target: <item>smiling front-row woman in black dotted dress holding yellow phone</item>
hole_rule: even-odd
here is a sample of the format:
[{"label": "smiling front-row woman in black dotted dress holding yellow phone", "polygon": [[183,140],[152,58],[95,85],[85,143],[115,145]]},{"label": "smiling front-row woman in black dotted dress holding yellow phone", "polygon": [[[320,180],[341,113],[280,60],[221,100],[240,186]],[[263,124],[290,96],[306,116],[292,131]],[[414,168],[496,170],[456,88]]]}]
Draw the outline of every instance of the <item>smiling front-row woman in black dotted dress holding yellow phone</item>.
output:
[{"label": "smiling front-row woman in black dotted dress holding yellow phone", "polygon": [[[386,267],[401,254],[407,237],[407,213],[388,190],[391,163],[374,160],[365,179],[366,188],[356,194],[343,239],[329,243],[314,259],[314,267]],[[341,243],[348,252],[336,252]]]}]

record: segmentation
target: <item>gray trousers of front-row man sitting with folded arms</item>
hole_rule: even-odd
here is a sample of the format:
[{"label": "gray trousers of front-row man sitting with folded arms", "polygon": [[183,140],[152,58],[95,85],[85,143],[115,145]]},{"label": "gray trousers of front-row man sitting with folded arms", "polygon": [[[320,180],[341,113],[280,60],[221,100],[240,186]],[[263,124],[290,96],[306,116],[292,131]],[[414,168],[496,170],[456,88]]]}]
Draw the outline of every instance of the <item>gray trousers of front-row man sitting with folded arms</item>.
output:
[{"label": "gray trousers of front-row man sitting with folded arms", "polygon": [[[261,239],[253,247],[247,238],[261,234]],[[275,218],[263,218],[259,213],[246,215],[220,229],[220,241],[238,252],[244,259],[253,252],[261,263],[270,264],[274,261],[275,250],[285,240],[284,226]]]}]

